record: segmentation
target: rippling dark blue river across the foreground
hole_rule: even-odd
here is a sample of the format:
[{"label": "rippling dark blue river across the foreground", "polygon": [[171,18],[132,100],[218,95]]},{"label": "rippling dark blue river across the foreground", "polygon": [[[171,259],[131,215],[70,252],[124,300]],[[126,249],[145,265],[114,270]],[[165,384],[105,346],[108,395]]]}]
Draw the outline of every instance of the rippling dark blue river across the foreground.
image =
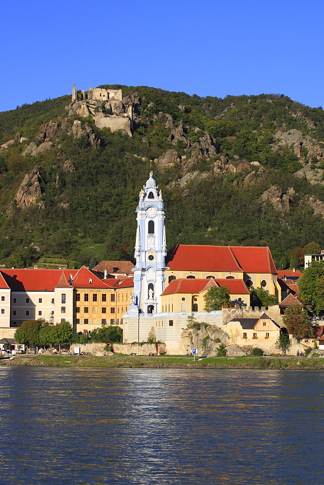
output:
[{"label": "rippling dark blue river across the foreground", "polygon": [[324,372],[0,368],[0,484],[320,485]]}]

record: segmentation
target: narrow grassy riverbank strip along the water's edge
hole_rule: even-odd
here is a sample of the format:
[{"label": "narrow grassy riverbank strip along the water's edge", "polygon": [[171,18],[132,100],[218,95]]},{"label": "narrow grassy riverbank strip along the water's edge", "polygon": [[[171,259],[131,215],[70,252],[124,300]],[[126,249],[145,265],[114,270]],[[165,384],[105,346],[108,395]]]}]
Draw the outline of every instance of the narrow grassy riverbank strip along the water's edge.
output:
[{"label": "narrow grassy riverbank strip along the water's edge", "polygon": [[324,359],[306,357],[208,357],[192,356],[15,356],[0,365],[49,367],[121,367],[138,369],[324,369]]}]

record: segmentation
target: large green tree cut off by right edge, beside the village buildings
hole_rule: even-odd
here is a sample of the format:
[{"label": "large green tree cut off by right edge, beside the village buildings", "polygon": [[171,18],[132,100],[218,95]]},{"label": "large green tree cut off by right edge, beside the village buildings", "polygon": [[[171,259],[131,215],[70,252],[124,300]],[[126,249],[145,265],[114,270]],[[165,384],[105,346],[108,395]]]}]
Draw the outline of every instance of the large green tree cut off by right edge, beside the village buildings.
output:
[{"label": "large green tree cut off by right edge, beside the village buildings", "polygon": [[313,261],[298,278],[299,298],[318,314],[324,310],[324,261]]}]

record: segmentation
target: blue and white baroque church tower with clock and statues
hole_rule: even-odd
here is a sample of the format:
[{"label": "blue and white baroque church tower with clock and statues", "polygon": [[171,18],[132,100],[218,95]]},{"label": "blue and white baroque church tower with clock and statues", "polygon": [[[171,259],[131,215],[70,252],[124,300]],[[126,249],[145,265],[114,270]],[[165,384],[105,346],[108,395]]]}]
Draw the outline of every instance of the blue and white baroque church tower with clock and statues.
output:
[{"label": "blue and white baroque church tower with clock and statues", "polygon": [[[164,290],[166,242],[162,192],[150,172],[137,206],[134,272],[134,302],[140,313],[161,311]],[[132,306],[132,308],[134,308]],[[130,310],[130,309],[129,309]]]}]

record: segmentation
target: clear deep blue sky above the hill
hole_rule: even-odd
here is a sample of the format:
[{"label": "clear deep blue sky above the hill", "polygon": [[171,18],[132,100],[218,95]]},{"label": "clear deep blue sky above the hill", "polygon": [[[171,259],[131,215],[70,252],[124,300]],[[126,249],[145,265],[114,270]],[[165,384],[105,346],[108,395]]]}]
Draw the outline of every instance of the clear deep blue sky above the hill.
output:
[{"label": "clear deep blue sky above the hill", "polygon": [[0,111],[99,84],[324,107],[323,0],[10,0]]}]

